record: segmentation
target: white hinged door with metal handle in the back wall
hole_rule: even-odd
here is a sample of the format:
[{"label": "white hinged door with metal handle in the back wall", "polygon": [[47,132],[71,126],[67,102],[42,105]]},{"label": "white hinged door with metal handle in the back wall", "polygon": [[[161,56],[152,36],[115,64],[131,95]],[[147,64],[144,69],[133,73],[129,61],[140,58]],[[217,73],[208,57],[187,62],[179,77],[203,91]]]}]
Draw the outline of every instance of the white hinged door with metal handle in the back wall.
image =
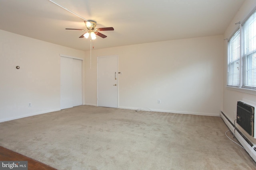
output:
[{"label": "white hinged door with metal handle in the back wall", "polygon": [[98,106],[118,107],[118,56],[97,58]]}]

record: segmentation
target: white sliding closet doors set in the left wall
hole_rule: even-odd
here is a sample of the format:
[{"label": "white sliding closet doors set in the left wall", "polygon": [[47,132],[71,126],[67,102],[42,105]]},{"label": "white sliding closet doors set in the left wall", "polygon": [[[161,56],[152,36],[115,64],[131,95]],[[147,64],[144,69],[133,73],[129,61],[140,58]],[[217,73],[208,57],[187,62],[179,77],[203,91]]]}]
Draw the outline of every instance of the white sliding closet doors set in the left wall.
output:
[{"label": "white sliding closet doors set in the left wall", "polygon": [[82,60],[60,57],[60,109],[82,105]]}]

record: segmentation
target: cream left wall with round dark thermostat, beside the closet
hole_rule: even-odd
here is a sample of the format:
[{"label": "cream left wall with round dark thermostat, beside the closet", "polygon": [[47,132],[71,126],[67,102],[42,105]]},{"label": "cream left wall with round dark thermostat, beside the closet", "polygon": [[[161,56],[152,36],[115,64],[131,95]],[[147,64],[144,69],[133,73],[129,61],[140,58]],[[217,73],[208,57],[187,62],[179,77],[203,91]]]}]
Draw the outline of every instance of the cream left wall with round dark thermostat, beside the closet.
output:
[{"label": "cream left wall with round dark thermostat, beside the closet", "polygon": [[60,109],[60,54],[85,52],[0,30],[0,122]]}]

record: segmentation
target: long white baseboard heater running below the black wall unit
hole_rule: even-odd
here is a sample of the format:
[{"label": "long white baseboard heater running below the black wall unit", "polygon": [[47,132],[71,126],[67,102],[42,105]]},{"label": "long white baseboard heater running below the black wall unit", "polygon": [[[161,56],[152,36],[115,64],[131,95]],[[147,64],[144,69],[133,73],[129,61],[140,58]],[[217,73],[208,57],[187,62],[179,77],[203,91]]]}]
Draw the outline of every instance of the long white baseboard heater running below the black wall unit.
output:
[{"label": "long white baseboard heater running below the black wall unit", "polygon": [[234,132],[235,130],[235,137],[236,139],[241,143],[241,145],[244,147],[246,152],[252,157],[252,159],[256,162],[256,145],[254,145],[250,140],[242,134],[242,132],[235,127],[234,123],[228,119],[228,117],[221,111],[220,117],[224,120],[228,128]]}]

